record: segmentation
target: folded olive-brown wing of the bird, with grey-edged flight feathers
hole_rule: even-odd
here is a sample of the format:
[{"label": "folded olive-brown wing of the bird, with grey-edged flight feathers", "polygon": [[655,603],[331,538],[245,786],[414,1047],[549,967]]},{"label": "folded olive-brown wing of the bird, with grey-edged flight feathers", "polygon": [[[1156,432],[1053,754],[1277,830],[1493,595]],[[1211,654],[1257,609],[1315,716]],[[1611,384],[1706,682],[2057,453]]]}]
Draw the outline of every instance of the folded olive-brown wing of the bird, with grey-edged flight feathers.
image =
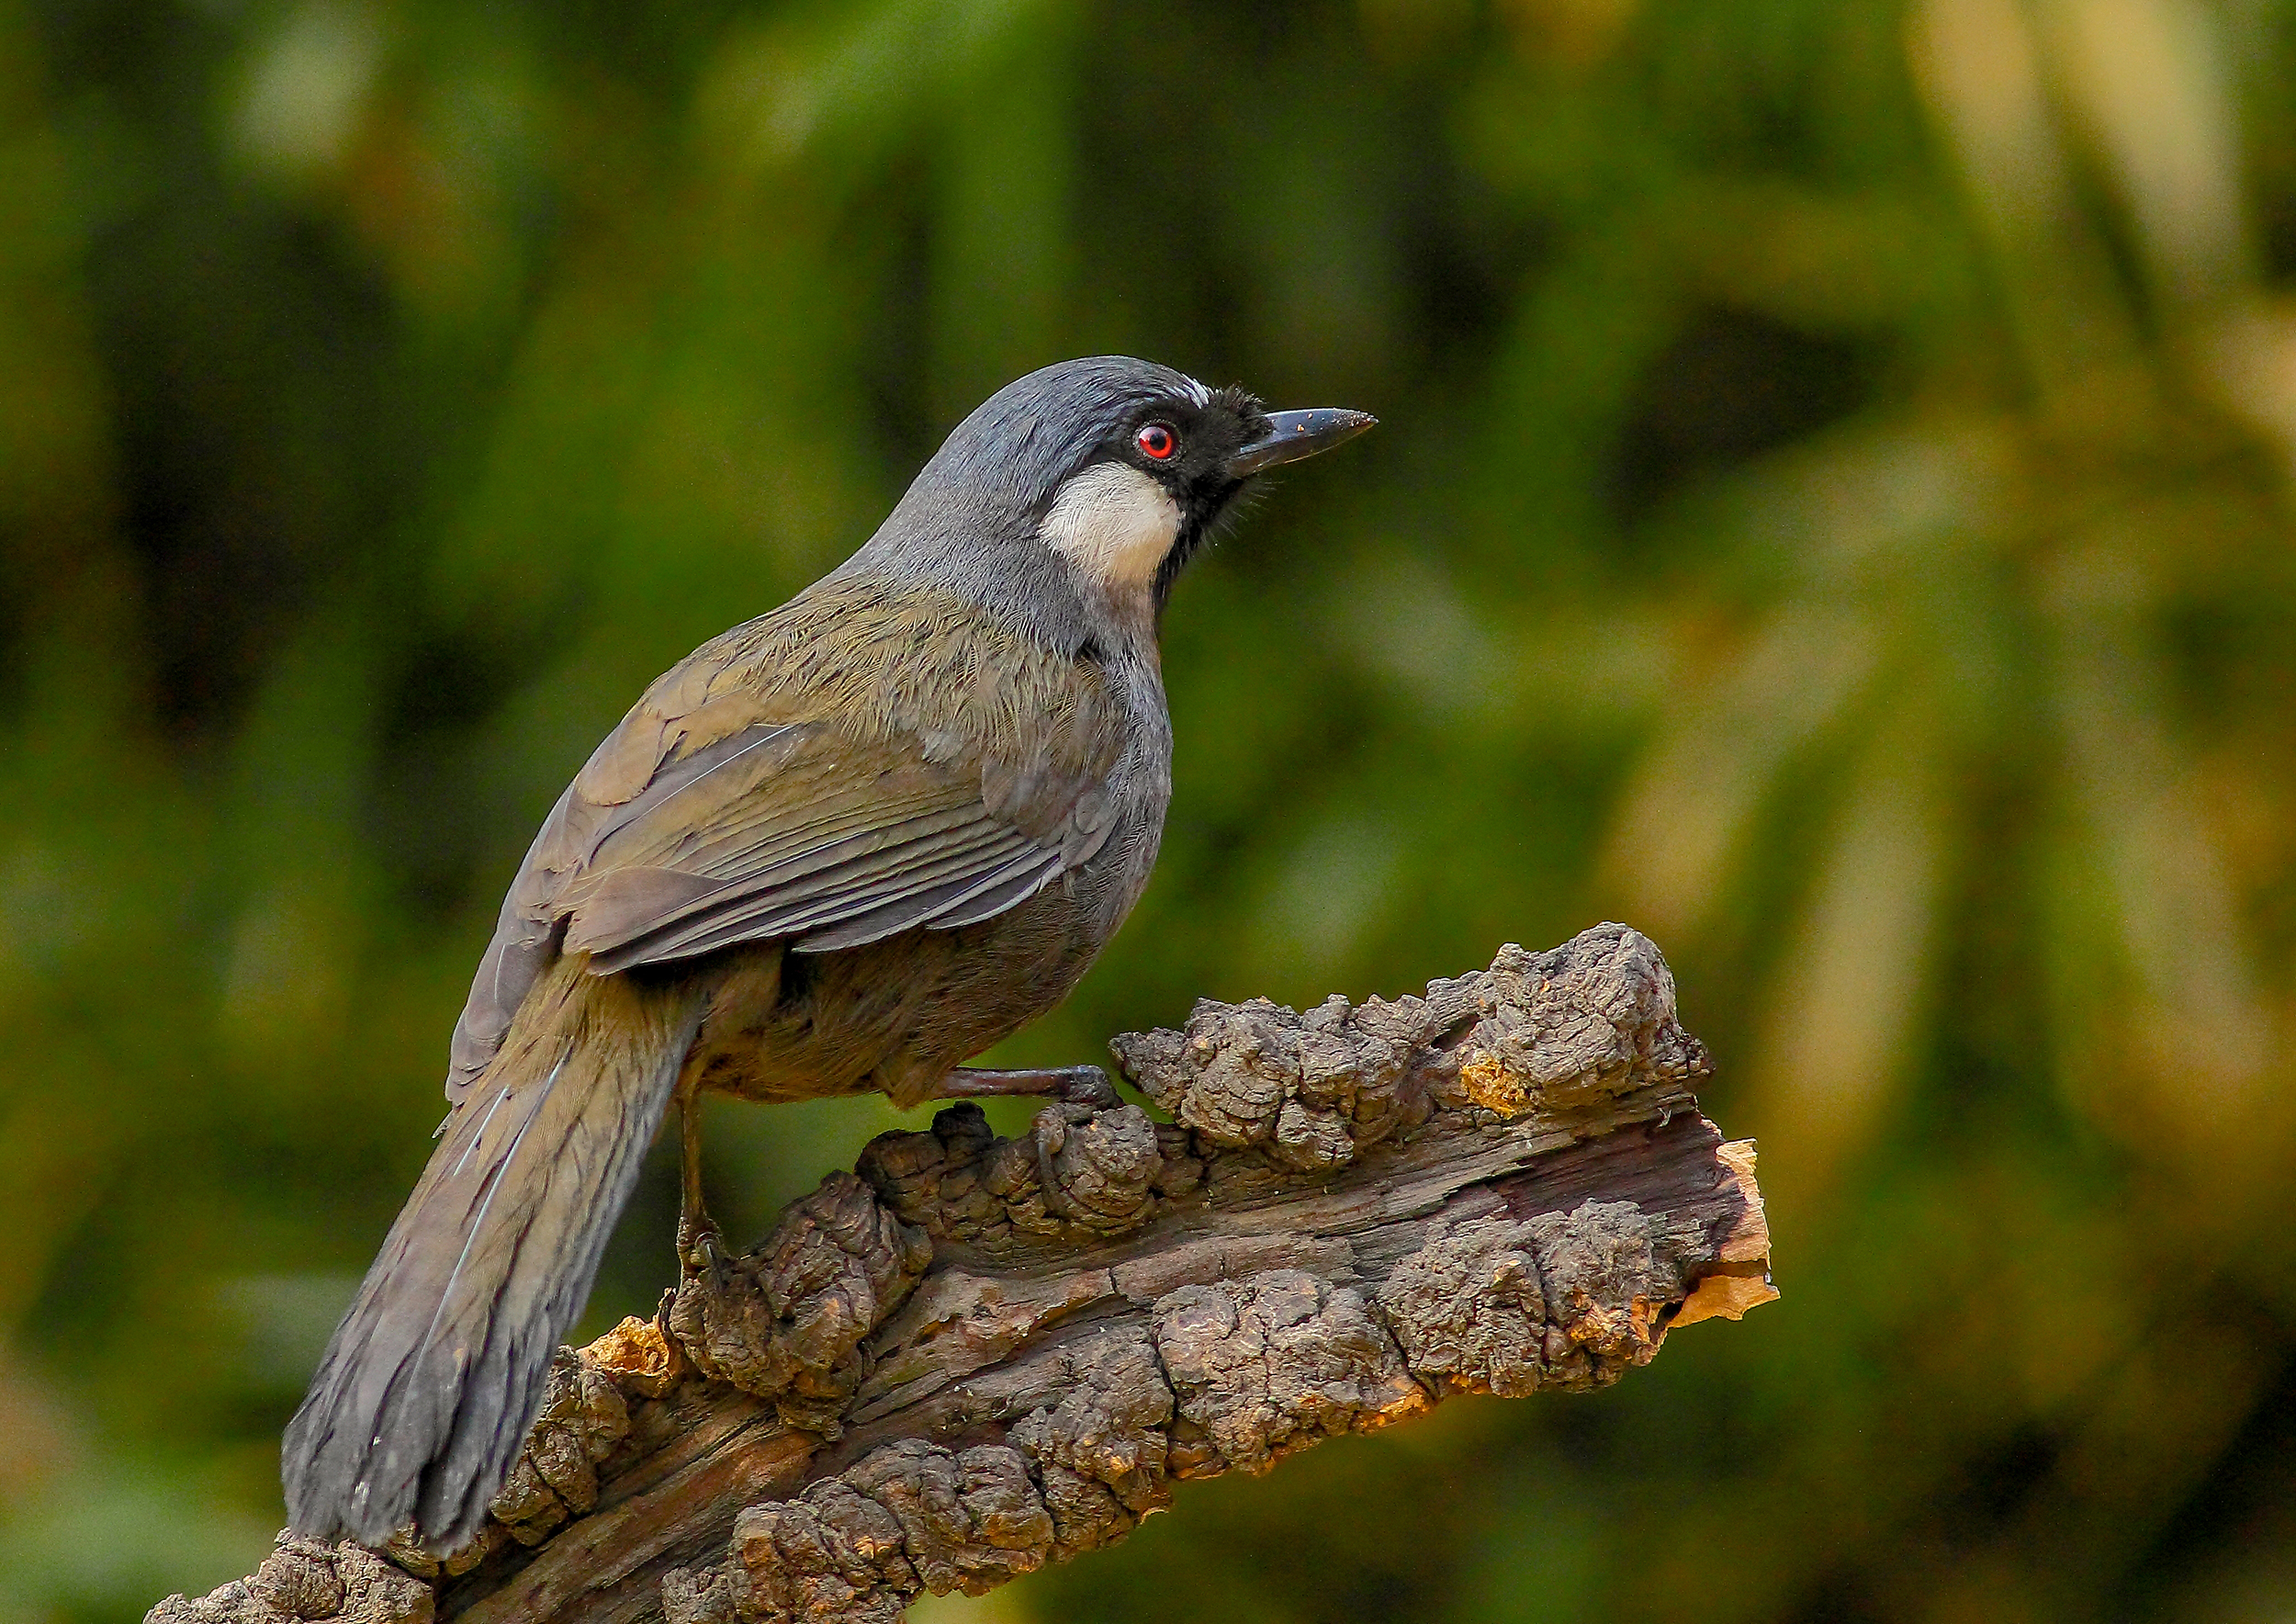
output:
[{"label": "folded olive-brown wing of the bird, with grey-edged flight feathers", "polygon": [[[1061,712],[1077,719],[1095,691],[1068,701]],[[560,951],[590,953],[606,974],[737,942],[810,953],[969,926],[1109,836],[1111,763],[1084,751],[1040,742],[1015,767],[946,737],[856,740],[790,719],[788,705],[765,710],[666,680],[599,744],[503,900],[455,1029],[450,1098],[491,1064]]]}]

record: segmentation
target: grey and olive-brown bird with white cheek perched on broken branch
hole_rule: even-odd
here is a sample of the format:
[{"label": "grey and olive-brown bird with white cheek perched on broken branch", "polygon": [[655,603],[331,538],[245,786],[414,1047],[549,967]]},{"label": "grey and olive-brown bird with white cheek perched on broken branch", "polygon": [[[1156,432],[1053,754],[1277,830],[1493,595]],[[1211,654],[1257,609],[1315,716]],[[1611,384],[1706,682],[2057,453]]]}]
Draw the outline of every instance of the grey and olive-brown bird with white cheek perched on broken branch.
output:
[{"label": "grey and olive-brown bird with white cheek perched on broken branch", "polygon": [[1251,480],[1373,423],[1047,365],[852,558],[645,689],[503,900],[439,1144],[282,1440],[296,1534],[478,1534],[673,1103],[691,1268],[705,1091],[1116,1098],[1097,1066],[964,1061],[1058,1004],[1148,884],[1182,567]]}]

